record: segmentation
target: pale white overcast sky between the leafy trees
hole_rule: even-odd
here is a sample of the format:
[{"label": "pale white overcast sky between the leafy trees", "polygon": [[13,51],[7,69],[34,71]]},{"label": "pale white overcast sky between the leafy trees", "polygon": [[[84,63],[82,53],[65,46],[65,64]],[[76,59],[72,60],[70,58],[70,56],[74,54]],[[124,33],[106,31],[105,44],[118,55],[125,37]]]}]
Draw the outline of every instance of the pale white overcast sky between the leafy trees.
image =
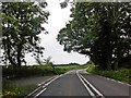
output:
[{"label": "pale white overcast sky between the leafy trees", "polygon": [[[45,28],[49,32],[49,34],[40,34],[39,37],[41,38],[41,46],[45,48],[44,50],[44,58],[51,57],[51,61],[55,64],[68,64],[68,63],[80,63],[84,64],[88,61],[88,58],[79,54],[78,52],[68,53],[63,51],[63,46],[59,45],[57,41],[57,35],[61,28],[66,26],[70,19],[70,9],[69,5],[66,9],[60,8],[60,0],[46,0],[48,3],[47,10],[50,12],[48,17],[48,24],[45,24]],[[35,64],[36,61],[34,60],[31,54],[26,54],[25,60],[27,61],[27,65]]]}]

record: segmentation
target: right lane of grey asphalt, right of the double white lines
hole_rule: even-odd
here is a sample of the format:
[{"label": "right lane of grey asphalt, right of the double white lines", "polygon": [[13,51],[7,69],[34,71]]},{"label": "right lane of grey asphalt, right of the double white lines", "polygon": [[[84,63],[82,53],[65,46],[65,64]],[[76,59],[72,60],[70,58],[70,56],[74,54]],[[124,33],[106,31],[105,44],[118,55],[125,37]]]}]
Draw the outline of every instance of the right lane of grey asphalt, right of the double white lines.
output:
[{"label": "right lane of grey asphalt, right of the double white lines", "polygon": [[111,81],[98,75],[87,74],[84,70],[80,71],[95,88],[97,88],[105,98],[131,98],[131,86]]}]

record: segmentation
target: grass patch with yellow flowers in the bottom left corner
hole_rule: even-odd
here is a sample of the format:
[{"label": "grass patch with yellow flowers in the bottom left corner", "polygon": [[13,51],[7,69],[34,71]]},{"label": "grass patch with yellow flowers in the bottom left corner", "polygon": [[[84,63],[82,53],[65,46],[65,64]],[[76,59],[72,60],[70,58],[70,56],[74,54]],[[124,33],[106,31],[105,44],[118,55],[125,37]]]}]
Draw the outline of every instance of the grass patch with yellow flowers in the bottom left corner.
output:
[{"label": "grass patch with yellow flowers in the bottom left corner", "polygon": [[37,87],[37,85],[15,85],[11,81],[3,82],[2,98],[23,98]]}]

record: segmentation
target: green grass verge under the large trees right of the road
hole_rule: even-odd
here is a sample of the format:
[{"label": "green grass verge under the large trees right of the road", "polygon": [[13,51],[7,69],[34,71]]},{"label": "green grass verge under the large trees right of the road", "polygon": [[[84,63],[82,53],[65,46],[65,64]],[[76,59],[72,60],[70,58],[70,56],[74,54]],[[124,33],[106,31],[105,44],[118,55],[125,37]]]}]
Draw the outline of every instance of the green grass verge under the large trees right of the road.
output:
[{"label": "green grass verge under the large trees right of the road", "polygon": [[122,68],[118,71],[104,71],[98,70],[95,65],[91,64],[87,72],[131,84],[131,69]]}]

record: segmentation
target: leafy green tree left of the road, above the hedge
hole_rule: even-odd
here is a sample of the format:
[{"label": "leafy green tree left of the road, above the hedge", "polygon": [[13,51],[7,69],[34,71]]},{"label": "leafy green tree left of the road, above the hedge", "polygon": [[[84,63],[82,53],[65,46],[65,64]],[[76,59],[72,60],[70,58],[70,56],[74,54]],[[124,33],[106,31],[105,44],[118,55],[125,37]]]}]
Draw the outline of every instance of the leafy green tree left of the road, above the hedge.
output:
[{"label": "leafy green tree left of the road, above the hedge", "polygon": [[14,66],[25,62],[25,53],[43,54],[38,35],[47,33],[41,24],[49,12],[46,2],[2,2],[2,49],[3,61]]}]

